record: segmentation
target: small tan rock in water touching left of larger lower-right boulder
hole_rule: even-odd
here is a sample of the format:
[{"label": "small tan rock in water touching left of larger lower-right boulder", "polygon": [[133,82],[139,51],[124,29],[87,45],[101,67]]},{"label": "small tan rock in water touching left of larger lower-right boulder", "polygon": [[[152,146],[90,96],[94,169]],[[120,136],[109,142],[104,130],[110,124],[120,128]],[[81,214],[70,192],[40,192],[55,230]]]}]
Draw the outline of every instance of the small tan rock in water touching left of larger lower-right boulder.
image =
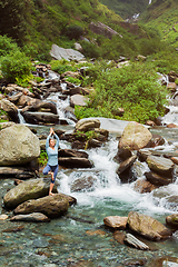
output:
[{"label": "small tan rock in water touching left of larger lower-right boulder", "polygon": [[128,217],[108,216],[103,219],[106,226],[115,229],[126,229]]}]

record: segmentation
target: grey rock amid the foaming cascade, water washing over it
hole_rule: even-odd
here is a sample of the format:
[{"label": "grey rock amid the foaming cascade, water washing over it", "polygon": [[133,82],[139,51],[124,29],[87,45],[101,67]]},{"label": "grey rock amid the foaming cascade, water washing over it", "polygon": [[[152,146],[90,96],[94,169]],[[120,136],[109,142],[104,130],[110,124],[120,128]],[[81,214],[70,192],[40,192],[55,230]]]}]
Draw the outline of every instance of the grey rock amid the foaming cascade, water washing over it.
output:
[{"label": "grey rock amid the foaming cascade, water washing over it", "polygon": [[82,190],[92,190],[93,185],[96,182],[96,178],[92,176],[89,177],[82,177],[79,179],[76,179],[70,187],[71,191],[82,191]]}]

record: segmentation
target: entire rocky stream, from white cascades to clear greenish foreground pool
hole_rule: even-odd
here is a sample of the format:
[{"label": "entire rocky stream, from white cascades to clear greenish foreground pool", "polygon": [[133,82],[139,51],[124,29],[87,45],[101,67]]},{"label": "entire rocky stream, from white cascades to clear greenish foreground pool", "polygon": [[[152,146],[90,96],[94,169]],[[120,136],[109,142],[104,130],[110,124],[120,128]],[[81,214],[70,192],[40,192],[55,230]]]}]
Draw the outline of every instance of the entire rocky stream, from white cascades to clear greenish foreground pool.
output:
[{"label": "entire rocky stream, from white cascades to clear greenish foreground pool", "polygon": [[[48,100],[57,96],[51,95]],[[60,117],[62,105],[68,105],[68,100],[58,102]],[[178,109],[175,108],[175,112]],[[172,109],[171,109],[172,112]],[[176,121],[175,112],[168,113],[164,118],[165,122]],[[174,118],[174,121],[171,121]],[[174,233],[168,240],[160,243],[145,241],[151,246],[151,250],[142,251],[126,245],[119,245],[112,233],[103,225],[107,216],[128,216],[131,210],[149,215],[165,224],[166,217],[178,212],[178,202],[167,201],[169,196],[178,195],[178,179],[175,184],[160,187],[152,192],[139,194],[134,190],[134,184],[120,184],[116,174],[118,164],[112,159],[117,154],[118,136],[121,135],[127,121],[100,118],[101,128],[110,131],[109,140],[101,148],[87,150],[89,159],[93,161],[91,169],[61,169],[58,172],[58,189],[63,194],[77,198],[77,205],[69,208],[68,214],[50,222],[11,222],[9,219],[0,221],[0,266],[27,266],[27,267],[55,267],[55,266],[100,266],[119,267],[128,266],[128,260],[144,258],[147,264],[158,257],[178,258],[178,231]],[[26,123],[22,118],[21,122]],[[29,126],[29,125],[28,125]],[[36,128],[38,135],[48,134],[47,126],[31,126]],[[55,126],[55,129],[72,130],[75,123],[68,126]],[[150,128],[152,134],[158,134],[166,139],[166,145],[152,148],[160,154],[178,152],[178,128],[166,127]],[[60,148],[71,148],[70,144],[60,140]],[[144,177],[148,167],[145,162],[139,162],[138,179]],[[93,190],[71,192],[70,184],[79,177],[92,176],[96,178]],[[7,189],[13,187],[13,180],[0,180],[1,199]],[[155,194],[156,191],[156,194]],[[161,197],[159,197],[161,196]],[[1,207],[1,214],[7,212]],[[9,212],[11,215],[11,212]],[[21,231],[7,233],[7,228],[24,226]],[[78,263],[78,264],[77,264]],[[139,265],[137,265],[139,266]],[[170,264],[165,266],[178,266]]]}]

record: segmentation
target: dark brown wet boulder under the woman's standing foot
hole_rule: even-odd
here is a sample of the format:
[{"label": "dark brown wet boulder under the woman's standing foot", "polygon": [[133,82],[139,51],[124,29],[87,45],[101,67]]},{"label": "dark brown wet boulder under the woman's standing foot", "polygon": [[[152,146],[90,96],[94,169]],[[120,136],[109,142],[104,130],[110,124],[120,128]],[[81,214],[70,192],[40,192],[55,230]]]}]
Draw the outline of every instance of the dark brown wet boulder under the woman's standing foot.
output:
[{"label": "dark brown wet boulder under the woman's standing foot", "polygon": [[69,208],[69,200],[62,194],[47,196],[39,199],[31,199],[14,209],[14,215],[41,212],[49,218],[56,218],[63,215]]}]

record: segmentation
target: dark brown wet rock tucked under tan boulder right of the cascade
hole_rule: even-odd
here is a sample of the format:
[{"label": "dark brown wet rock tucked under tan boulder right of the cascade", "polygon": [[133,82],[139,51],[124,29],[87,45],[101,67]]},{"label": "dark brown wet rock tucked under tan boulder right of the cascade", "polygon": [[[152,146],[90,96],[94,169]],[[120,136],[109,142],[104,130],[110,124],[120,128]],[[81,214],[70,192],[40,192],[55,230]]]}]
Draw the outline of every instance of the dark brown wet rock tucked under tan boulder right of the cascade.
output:
[{"label": "dark brown wet rock tucked under tan boulder right of the cascade", "polygon": [[167,186],[172,182],[171,178],[159,176],[154,171],[145,172],[145,176],[155,186]]}]

